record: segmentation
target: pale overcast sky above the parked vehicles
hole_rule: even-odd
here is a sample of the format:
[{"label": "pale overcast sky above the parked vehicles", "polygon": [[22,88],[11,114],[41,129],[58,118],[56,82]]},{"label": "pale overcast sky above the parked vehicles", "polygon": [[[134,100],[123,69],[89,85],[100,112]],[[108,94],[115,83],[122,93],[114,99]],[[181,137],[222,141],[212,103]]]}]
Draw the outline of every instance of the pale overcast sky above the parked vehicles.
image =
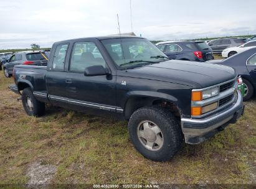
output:
[{"label": "pale overcast sky above the parked vehicles", "polygon": [[0,0],[0,49],[117,34],[116,14],[121,33],[132,21],[149,40],[254,35],[255,7],[255,0]]}]

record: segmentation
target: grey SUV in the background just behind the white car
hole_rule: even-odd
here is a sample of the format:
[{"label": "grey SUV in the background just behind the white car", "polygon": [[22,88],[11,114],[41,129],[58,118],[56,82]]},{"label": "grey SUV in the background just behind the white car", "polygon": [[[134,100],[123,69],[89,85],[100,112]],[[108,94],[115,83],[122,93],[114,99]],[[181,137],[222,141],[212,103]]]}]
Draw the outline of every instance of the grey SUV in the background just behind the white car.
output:
[{"label": "grey SUV in the background just behind the white car", "polygon": [[229,47],[237,47],[244,44],[243,39],[239,38],[225,38],[211,40],[208,45],[212,48],[213,53],[221,54],[222,50]]}]

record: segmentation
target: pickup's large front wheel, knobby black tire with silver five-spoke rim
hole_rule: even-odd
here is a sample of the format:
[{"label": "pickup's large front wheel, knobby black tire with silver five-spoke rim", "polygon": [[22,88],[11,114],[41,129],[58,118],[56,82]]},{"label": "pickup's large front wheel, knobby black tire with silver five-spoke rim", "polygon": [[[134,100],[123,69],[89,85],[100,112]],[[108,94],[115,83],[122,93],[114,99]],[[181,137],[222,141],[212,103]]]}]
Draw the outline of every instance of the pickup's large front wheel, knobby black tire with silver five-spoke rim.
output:
[{"label": "pickup's large front wheel, knobby black tire with silver five-spoke rim", "polygon": [[[181,126],[173,114],[166,109],[155,106],[137,109],[131,115],[128,129],[136,150],[147,159],[158,162],[167,161],[181,149],[183,142]],[[144,133],[144,136],[141,133]]]}]

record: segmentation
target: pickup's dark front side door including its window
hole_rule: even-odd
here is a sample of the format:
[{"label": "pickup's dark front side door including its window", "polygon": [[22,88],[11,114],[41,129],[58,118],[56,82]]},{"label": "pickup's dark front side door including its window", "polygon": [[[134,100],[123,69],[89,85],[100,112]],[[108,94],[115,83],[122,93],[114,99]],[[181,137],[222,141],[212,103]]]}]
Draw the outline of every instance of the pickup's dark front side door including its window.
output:
[{"label": "pickup's dark front side door including its window", "polygon": [[65,72],[65,93],[69,104],[115,111],[115,76],[85,76],[85,68],[102,65],[108,68],[94,42],[75,42]]}]

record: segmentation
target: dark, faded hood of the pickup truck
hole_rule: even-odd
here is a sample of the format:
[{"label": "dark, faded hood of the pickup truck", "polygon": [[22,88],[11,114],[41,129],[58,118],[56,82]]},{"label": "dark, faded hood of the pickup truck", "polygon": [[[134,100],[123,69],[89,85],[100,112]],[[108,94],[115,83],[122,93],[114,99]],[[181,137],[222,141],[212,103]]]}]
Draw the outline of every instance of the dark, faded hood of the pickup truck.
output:
[{"label": "dark, faded hood of the pickup truck", "polygon": [[206,88],[232,80],[236,73],[233,68],[224,65],[168,60],[144,67],[118,70],[117,75],[179,83],[192,88]]}]

